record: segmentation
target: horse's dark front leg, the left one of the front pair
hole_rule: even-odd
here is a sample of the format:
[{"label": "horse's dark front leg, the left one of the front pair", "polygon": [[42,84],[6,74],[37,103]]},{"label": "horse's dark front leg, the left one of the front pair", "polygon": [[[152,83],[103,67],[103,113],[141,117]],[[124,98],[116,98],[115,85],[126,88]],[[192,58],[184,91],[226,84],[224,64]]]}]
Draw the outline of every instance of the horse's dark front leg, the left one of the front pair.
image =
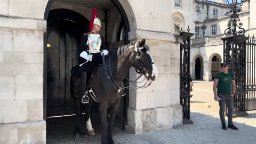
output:
[{"label": "horse's dark front leg, the left one of the front pair", "polygon": [[108,119],[107,119],[107,109],[108,105],[106,102],[99,103],[100,107],[100,117],[101,117],[101,144],[107,144],[107,129],[108,129]]}]

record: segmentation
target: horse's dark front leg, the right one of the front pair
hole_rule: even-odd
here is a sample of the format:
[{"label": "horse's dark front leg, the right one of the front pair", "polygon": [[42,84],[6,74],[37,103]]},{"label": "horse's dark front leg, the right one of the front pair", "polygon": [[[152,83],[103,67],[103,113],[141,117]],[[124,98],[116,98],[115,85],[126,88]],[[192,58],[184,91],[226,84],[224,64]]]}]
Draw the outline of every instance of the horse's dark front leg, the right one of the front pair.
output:
[{"label": "horse's dark front leg, the right one of the front pair", "polygon": [[116,110],[119,106],[119,103],[120,103],[120,99],[118,99],[113,105],[109,107],[108,134],[107,134],[108,144],[115,143],[113,141],[113,126],[115,124]]}]

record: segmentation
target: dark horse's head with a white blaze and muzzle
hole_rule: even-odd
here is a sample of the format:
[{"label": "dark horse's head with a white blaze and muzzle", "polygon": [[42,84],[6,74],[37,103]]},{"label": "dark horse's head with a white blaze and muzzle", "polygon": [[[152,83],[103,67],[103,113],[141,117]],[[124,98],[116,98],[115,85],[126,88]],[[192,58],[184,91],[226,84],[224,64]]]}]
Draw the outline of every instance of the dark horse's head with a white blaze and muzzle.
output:
[{"label": "dark horse's head with a white blaze and muzzle", "polygon": [[134,52],[131,55],[130,61],[137,73],[146,76],[148,80],[155,81],[158,71],[145,42],[145,39],[142,39],[141,42],[133,44]]}]

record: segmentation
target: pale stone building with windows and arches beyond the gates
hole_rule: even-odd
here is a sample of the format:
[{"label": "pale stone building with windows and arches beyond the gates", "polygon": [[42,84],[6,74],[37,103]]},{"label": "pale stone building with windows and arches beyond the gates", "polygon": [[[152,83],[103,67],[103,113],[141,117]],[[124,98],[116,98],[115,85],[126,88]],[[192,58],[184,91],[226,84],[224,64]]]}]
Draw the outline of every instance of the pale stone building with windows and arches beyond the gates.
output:
[{"label": "pale stone building with windows and arches beyond the gates", "polygon": [[[239,13],[245,35],[255,34],[255,20],[252,19],[255,1],[244,1]],[[190,74],[193,79],[212,81],[215,74],[221,71],[220,63],[223,61],[223,41],[225,29],[228,28],[230,10],[225,1],[194,1],[194,13],[191,40]],[[226,15],[227,14],[227,15]]]}]

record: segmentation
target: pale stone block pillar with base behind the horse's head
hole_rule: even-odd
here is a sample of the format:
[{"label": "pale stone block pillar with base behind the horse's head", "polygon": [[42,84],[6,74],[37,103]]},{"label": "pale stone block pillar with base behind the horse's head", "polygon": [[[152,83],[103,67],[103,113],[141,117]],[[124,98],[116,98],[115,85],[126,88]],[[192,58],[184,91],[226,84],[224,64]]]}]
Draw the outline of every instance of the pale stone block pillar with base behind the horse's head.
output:
[{"label": "pale stone block pillar with base behind the horse's head", "polygon": [[[150,55],[158,69],[158,77],[146,89],[130,90],[127,129],[134,133],[171,129],[173,125],[182,124],[182,107],[179,105],[179,43],[153,39],[153,35],[161,33],[152,32],[143,36],[147,39]],[[174,38],[173,35],[169,36]],[[133,39],[137,40],[140,39]],[[132,68],[130,79],[137,77]]]}]

